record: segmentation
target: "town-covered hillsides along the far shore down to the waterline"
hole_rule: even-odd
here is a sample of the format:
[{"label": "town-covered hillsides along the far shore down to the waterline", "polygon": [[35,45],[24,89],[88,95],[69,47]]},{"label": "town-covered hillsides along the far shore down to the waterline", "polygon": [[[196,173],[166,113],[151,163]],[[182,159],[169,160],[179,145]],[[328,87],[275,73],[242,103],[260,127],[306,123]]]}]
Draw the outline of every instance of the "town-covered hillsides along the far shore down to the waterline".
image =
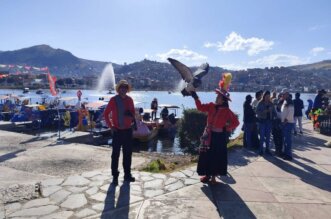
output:
[{"label": "town-covered hillsides along the far shore down to the waterline", "polygon": [[[60,89],[96,89],[107,64],[80,59],[68,51],[55,50],[48,45],[0,52],[0,89],[47,89],[47,72],[56,76],[56,87]],[[169,63],[147,59],[131,64],[113,63],[113,68],[116,81],[126,79],[134,90],[173,91],[182,80]],[[195,68],[192,67],[192,71]],[[200,90],[214,90],[224,72],[233,75],[232,91],[280,91],[286,87],[293,92],[315,93],[318,89],[331,89],[331,60],[326,60],[307,65],[240,71],[211,66]]]}]

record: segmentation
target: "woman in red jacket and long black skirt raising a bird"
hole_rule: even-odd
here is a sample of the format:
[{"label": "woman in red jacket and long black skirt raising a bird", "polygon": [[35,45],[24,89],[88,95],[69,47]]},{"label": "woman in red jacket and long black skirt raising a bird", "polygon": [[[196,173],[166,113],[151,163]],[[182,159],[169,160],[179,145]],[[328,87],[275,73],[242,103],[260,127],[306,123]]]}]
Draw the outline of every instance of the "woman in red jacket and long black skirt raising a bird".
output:
[{"label": "woman in red jacket and long black skirt raising a bird", "polygon": [[[226,87],[226,85],[224,85]],[[198,95],[192,92],[196,107],[207,113],[207,125],[202,136],[197,172],[200,181],[216,183],[215,176],[227,174],[227,143],[230,132],[238,125],[237,116],[229,109],[230,94],[225,87],[217,88],[215,103],[202,104]]]}]

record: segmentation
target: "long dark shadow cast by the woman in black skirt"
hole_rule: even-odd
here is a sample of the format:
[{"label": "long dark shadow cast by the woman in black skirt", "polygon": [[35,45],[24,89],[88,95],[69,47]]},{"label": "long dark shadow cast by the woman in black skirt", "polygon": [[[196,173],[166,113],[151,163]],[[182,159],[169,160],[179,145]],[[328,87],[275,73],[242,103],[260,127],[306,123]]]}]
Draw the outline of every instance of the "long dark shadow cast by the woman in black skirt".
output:
[{"label": "long dark shadow cast by the woman in black skirt", "polygon": [[217,207],[218,213],[224,219],[253,219],[256,216],[229,185],[217,183],[201,188],[205,195]]}]

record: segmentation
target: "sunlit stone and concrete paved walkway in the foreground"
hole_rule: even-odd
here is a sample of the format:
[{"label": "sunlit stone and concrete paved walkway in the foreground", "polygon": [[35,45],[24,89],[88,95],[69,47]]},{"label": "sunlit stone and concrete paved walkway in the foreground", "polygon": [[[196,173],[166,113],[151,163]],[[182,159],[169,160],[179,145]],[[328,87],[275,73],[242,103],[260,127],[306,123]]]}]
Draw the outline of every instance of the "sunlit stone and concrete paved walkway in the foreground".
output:
[{"label": "sunlit stone and concrete paved walkway in the foreground", "polygon": [[[323,145],[330,137],[304,127],[293,138],[293,161],[235,149],[230,175],[216,185],[201,184],[193,166],[170,174],[133,171],[135,183],[113,187],[104,168],[46,177],[26,194],[11,185],[0,218],[329,218],[331,148]],[[15,191],[30,200],[8,194]]]}]

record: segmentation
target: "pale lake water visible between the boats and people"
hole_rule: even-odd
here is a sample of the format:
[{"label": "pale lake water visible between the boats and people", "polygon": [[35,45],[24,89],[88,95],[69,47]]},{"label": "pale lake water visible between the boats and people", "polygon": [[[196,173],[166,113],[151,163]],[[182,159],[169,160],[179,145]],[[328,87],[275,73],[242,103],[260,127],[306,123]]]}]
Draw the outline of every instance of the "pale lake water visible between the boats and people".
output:
[{"label": "pale lake water visible between the boats and people", "polygon": [[[44,90],[45,94],[49,94],[49,90]],[[61,94],[62,97],[76,97],[77,90],[66,90],[66,93]],[[95,90],[82,90],[82,99],[92,102],[97,101],[100,96],[106,96],[109,99],[111,94],[107,94],[105,92],[98,92]],[[7,89],[0,89],[0,95],[4,94],[15,94],[15,95],[22,95],[22,90],[7,90]],[[242,124],[242,117],[243,117],[243,103],[245,101],[246,95],[252,95],[253,97],[255,94],[247,93],[247,92],[231,92],[230,96],[232,102],[230,102],[230,109],[239,115],[239,121]],[[159,104],[171,104],[177,105],[180,109],[177,110],[177,116],[181,117],[183,109],[185,108],[195,108],[195,103],[192,97],[183,97],[181,93],[168,93],[166,91],[132,91],[129,95],[134,99],[137,103],[136,105],[142,106],[143,108],[150,108],[150,103],[154,98],[158,99]],[[216,95],[215,92],[198,92],[200,100],[202,103],[209,103],[214,102]],[[30,93],[26,94],[31,98],[32,102],[40,102],[41,96],[36,94],[36,91],[31,90]],[[294,96],[294,94],[293,94]],[[314,100],[315,94],[301,94],[301,99],[304,101],[305,107],[307,104],[308,99]],[[139,102],[139,103],[138,103]],[[72,103],[75,104],[75,103]],[[160,110],[158,111],[158,113]],[[171,113],[171,110],[170,110]],[[159,116],[159,115],[158,115]],[[233,137],[236,137],[240,133],[241,129],[240,126],[236,129]],[[169,141],[167,139],[157,139],[157,141],[150,142],[148,145],[142,145],[146,150],[149,151],[157,151],[157,152],[172,152],[172,153],[181,153],[181,149],[178,144],[178,139],[176,138],[175,141]]]}]

